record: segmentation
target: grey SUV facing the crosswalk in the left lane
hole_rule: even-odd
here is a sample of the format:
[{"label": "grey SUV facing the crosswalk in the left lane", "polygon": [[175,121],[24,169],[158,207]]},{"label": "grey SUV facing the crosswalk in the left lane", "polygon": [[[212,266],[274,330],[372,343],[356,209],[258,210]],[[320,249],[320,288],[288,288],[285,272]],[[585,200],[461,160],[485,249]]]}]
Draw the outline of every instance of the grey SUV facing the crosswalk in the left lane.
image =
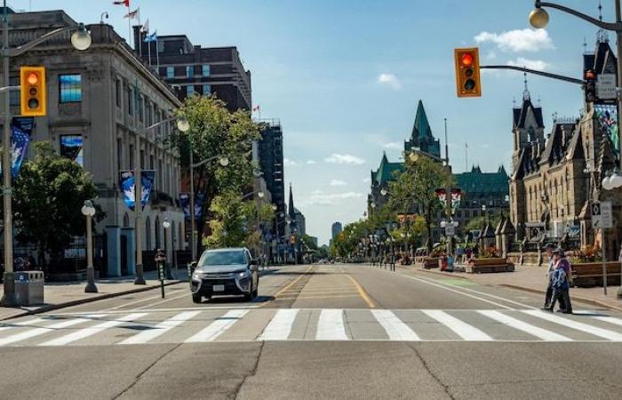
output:
[{"label": "grey SUV facing the crosswalk in the left lane", "polygon": [[246,248],[206,250],[192,274],[192,301],[215,295],[243,295],[250,301],[257,297],[259,272],[257,260]]}]

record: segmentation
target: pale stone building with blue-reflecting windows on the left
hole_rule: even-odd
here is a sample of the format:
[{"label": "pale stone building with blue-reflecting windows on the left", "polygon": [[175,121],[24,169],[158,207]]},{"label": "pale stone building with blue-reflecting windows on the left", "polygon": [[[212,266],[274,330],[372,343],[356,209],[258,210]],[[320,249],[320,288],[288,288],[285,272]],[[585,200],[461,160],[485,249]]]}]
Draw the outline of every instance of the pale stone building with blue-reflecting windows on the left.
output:
[{"label": "pale stone building with blue-reflecting windows on the left", "polygon": [[[9,41],[24,44],[55,28],[76,26],[65,12],[23,12],[10,15]],[[169,86],[138,58],[116,31],[106,24],[88,25],[92,46],[84,52],[70,44],[70,34],[55,36],[17,59],[12,59],[12,84],[19,81],[20,65],[46,68],[46,116],[35,118],[33,141],[50,141],[61,155],[71,156],[91,172],[106,218],[96,231],[96,256],[105,256],[100,273],[134,273],[134,215],[124,204],[119,172],[139,163],[156,170],[156,186],[143,212],[143,249],[163,247],[163,220],[171,221],[169,246],[184,247],[184,219],[179,195],[179,156],[158,138],[171,132],[165,126],[144,128],[172,116],[179,100]],[[14,95],[13,95],[14,94]],[[20,96],[12,93],[13,115],[20,114]],[[140,160],[135,148],[140,147]],[[32,147],[31,147],[32,149]],[[32,156],[30,151],[29,156]],[[53,271],[52,271],[53,272]]]}]

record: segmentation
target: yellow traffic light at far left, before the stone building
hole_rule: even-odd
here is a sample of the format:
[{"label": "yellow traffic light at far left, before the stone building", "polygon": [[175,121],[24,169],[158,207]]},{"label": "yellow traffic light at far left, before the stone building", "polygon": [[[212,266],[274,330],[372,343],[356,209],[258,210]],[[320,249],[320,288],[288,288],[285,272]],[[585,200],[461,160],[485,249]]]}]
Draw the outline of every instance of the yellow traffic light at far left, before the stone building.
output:
[{"label": "yellow traffic light at far left, before the stone building", "polygon": [[44,116],[47,111],[45,67],[20,68],[22,116]]}]

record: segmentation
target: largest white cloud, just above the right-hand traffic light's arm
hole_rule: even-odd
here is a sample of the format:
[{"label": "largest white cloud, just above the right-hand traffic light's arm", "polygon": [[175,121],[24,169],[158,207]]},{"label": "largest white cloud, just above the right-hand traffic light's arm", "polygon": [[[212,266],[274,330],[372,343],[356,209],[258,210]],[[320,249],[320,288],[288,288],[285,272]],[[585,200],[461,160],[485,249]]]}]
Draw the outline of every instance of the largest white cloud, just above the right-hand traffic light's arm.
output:
[{"label": "largest white cloud, just above the right-hand traffic light's arm", "polygon": [[500,34],[481,32],[475,36],[477,43],[497,44],[503,52],[538,52],[554,49],[553,40],[545,29],[514,29]]}]

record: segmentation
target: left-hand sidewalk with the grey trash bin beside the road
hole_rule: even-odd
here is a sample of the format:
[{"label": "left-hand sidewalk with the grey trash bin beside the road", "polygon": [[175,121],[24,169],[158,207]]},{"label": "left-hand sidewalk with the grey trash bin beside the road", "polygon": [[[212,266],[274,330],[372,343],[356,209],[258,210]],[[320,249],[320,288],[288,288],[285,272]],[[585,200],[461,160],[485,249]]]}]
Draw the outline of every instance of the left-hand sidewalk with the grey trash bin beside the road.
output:
[{"label": "left-hand sidewalk with the grey trash bin beside the road", "polygon": [[[181,280],[164,281],[164,284],[179,284],[187,281],[185,269],[179,269]],[[134,276],[122,276],[116,278],[103,278],[97,280],[97,293],[85,293],[85,281],[78,282],[54,282],[45,284],[44,301],[45,304],[33,307],[21,308],[2,308],[0,307],[0,321],[15,316],[27,314],[37,314],[56,308],[64,308],[76,304],[82,304],[94,300],[108,299],[110,297],[122,296],[133,292],[146,292],[160,287],[156,271],[145,272],[145,285],[134,284]],[[4,286],[0,284],[0,296],[4,294]]]}]

